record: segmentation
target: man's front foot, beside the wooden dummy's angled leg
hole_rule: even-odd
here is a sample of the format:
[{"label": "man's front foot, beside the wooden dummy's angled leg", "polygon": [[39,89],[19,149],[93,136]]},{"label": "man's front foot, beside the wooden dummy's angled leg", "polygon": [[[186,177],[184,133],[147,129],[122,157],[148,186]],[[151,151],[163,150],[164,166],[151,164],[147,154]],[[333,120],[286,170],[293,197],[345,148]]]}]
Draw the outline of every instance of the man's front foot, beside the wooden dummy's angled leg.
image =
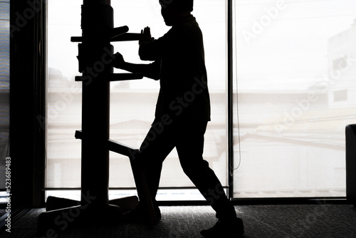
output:
[{"label": "man's front foot, beside the wooden dummy's angled leg", "polygon": [[144,224],[152,224],[153,222],[159,222],[159,220],[162,218],[161,210],[159,209],[159,207],[154,207],[154,209],[155,209],[156,221],[151,220],[150,213],[148,212],[147,207],[139,203],[139,205],[137,205],[130,212],[124,214],[123,216],[124,222],[144,223]]}]

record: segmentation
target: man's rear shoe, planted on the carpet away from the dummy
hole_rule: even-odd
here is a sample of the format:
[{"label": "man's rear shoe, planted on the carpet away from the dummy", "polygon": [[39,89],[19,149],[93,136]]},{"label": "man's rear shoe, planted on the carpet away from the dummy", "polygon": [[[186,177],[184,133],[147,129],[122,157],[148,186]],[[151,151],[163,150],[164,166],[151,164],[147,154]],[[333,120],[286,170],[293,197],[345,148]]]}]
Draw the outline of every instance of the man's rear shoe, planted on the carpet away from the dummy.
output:
[{"label": "man's rear shoe, planted on the carpet away from the dummy", "polygon": [[241,218],[236,218],[231,221],[219,220],[214,227],[204,229],[200,234],[205,238],[241,237],[244,234],[244,222],[242,222]]}]

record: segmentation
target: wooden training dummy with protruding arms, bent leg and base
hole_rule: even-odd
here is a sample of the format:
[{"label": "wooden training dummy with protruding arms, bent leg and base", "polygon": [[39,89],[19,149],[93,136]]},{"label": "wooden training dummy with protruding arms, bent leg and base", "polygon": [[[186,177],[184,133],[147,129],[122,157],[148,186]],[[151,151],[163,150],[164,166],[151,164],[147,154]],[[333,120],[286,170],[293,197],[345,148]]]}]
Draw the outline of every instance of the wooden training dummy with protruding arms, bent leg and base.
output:
[{"label": "wooden training dummy with protruding arms, bent leg and base", "polygon": [[155,211],[145,175],[135,166],[135,148],[109,140],[110,81],[143,78],[135,73],[113,73],[112,41],[137,41],[139,33],[127,33],[128,27],[113,28],[113,9],[110,0],[84,0],[82,6],[83,35],[72,37],[78,45],[79,71],[75,81],[83,83],[82,130],[75,138],[82,140],[81,199],[79,201],[48,197],[46,212],[38,217],[38,233],[46,237],[75,224],[118,224],[122,212],[138,203],[137,197],[108,200],[109,150],[129,157],[137,193],[149,209],[151,224]]}]

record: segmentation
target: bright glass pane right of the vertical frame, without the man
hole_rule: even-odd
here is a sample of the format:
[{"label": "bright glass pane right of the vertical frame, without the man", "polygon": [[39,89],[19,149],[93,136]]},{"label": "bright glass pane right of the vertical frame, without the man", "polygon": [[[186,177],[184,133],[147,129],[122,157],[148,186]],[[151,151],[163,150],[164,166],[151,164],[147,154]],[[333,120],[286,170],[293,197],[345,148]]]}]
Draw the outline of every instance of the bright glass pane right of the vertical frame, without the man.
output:
[{"label": "bright glass pane right of the vertical frame, without the man", "polygon": [[235,3],[234,197],[345,196],[356,2]]}]

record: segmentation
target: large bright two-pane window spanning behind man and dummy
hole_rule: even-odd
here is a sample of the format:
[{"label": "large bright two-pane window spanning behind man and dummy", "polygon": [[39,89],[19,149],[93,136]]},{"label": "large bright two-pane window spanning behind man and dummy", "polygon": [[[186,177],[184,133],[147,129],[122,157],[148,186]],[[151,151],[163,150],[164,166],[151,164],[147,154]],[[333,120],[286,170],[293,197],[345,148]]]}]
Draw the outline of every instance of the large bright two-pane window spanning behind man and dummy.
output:
[{"label": "large bright two-pane window spanning behind man and dummy", "polygon": [[[227,155],[227,19],[234,10],[234,165]],[[46,188],[80,188],[80,0],[48,0]],[[112,1],[115,26],[150,26],[162,36],[157,0]],[[195,0],[204,34],[212,120],[204,157],[234,197],[345,197],[345,125],[356,122],[356,2],[352,0]],[[65,15],[66,17],[63,17]],[[137,42],[112,43],[141,63]],[[110,138],[138,148],[153,120],[159,83],[144,78],[111,84]],[[162,188],[194,187],[174,151]],[[112,196],[135,187],[127,157],[110,152]],[[133,191],[133,190],[132,190]],[[160,190],[159,199],[199,199]],[[77,198],[79,192],[75,192]],[[193,195],[197,195],[194,197]],[[70,192],[67,197],[70,196]],[[63,193],[61,194],[63,197]]]}]

